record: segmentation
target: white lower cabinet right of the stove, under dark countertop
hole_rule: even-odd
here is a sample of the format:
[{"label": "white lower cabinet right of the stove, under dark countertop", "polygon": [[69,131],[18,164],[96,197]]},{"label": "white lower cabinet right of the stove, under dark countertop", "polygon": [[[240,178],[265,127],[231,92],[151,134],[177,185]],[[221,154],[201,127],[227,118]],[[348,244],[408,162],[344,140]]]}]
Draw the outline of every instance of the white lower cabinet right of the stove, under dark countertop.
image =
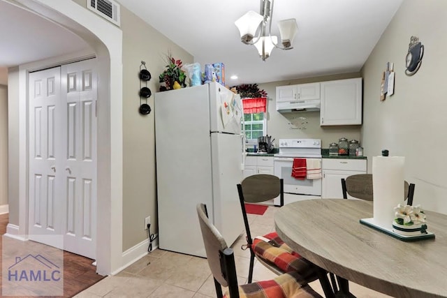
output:
[{"label": "white lower cabinet right of the stove, under dark countertop", "polygon": [[321,198],[343,198],[342,178],[346,179],[353,174],[366,174],[367,160],[323,158],[321,170],[323,173]]}]

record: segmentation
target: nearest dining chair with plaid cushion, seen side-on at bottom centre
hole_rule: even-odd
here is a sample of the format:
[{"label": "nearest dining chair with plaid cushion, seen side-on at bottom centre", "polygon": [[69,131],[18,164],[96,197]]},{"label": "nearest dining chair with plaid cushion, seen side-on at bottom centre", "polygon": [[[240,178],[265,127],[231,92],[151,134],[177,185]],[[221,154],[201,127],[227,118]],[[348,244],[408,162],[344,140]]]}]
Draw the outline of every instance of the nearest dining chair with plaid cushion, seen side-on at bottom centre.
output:
[{"label": "nearest dining chair with plaid cushion, seen side-on at bottom centre", "polygon": [[[283,274],[272,281],[259,281],[237,285],[235,258],[232,248],[228,248],[225,239],[217,228],[210,223],[205,204],[197,205],[197,214],[202,231],[203,243],[207,255],[208,265],[214,277],[214,286],[218,298],[239,297],[294,297],[308,298],[321,297],[306,283],[306,276],[301,276],[297,271]],[[311,272],[307,272],[311,274]],[[225,296],[222,287],[228,287]]]}]

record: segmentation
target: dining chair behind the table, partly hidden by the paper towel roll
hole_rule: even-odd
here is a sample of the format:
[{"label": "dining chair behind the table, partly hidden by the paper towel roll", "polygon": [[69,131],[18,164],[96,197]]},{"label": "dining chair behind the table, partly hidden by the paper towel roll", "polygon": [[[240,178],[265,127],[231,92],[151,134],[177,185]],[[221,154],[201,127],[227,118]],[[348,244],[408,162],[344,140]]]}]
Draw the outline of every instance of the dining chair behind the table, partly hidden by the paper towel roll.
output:
[{"label": "dining chair behind the table, partly hidden by the paper towel roll", "polygon": [[[415,184],[409,184],[404,181],[404,200],[407,200],[407,204],[413,204]],[[355,174],[346,179],[342,178],[342,191],[343,198],[347,199],[348,195],[360,200],[372,201],[372,174]]]}]

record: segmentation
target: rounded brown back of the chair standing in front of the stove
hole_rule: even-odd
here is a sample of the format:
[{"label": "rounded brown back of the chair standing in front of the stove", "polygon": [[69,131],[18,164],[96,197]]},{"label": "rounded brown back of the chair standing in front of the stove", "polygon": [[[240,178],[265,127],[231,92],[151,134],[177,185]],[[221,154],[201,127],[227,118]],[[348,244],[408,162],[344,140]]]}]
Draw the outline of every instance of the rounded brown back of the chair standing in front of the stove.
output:
[{"label": "rounded brown back of the chair standing in front of the stove", "polygon": [[237,184],[237,189],[240,189],[240,198],[247,203],[272,200],[284,192],[282,179],[270,174],[251,175]]}]

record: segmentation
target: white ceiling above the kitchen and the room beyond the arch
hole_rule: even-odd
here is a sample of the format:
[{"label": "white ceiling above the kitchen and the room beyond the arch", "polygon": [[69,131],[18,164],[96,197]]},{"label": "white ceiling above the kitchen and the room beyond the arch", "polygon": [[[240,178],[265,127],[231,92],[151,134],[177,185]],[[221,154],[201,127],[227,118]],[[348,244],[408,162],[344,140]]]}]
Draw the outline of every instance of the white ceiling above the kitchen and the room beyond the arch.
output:
[{"label": "white ceiling above the kitchen and the room beyond the arch", "polygon": [[[274,49],[262,61],[256,48],[240,42],[235,20],[258,0],[118,0],[193,55],[202,68],[223,62],[226,84],[262,83],[359,71],[402,0],[277,0],[276,22],[294,17],[293,50]],[[48,20],[0,0],[0,84],[5,67],[78,52],[88,45]],[[166,49],[168,51],[169,49]],[[231,80],[237,75],[237,80]]]}]

